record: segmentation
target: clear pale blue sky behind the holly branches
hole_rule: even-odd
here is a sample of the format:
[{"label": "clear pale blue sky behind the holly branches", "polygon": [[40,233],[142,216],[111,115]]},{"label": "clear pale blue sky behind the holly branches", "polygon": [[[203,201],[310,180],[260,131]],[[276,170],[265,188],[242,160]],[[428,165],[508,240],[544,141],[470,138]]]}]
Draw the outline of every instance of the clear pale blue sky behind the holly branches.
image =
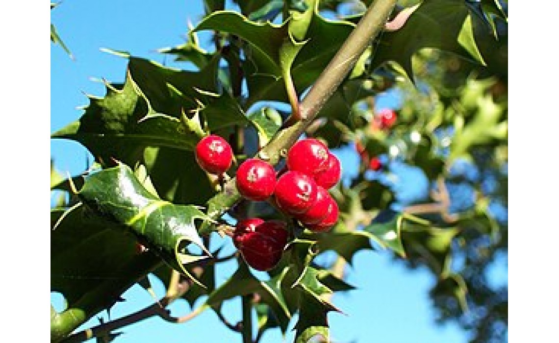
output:
[{"label": "clear pale blue sky behind the holly branches", "polygon": [[[60,46],[51,45],[51,122],[54,132],[76,120],[88,103],[83,93],[103,96],[104,86],[91,78],[105,78],[110,82],[124,80],[126,60],[100,51],[102,47],[129,51],[168,65],[170,58],[154,53],[155,49],[184,42],[187,22],[196,23],[201,16],[202,1],[78,1],[65,0],[51,11],[53,22],[65,44],[72,51],[71,60]],[[202,44],[205,43],[202,38]],[[347,154],[347,155],[346,155]],[[51,156],[61,171],[77,174],[86,168],[88,153],[76,142],[51,140]],[[342,166],[350,171],[354,156],[341,153]],[[90,159],[91,162],[91,159]],[[221,241],[231,247],[228,239]],[[226,253],[226,251],[224,252]],[[235,263],[221,266],[217,283],[224,282],[233,272]],[[496,269],[496,281],[506,278],[506,272]],[[331,335],[337,342],[382,343],[465,343],[467,334],[454,325],[436,326],[428,298],[434,277],[424,269],[409,271],[401,264],[391,262],[387,251],[362,251],[354,258],[347,271],[348,282],[357,290],[337,294],[333,301],[346,315],[331,313]],[[163,285],[154,280],[158,297],[164,294]],[[124,303],[117,304],[111,317],[127,315],[153,303],[153,298],[139,287],[132,287],[124,295]],[[60,303],[58,296],[53,297]],[[200,300],[201,301],[201,300]],[[190,311],[186,302],[177,301],[170,306],[173,315]],[[240,299],[225,304],[225,315],[231,322],[240,320]],[[107,320],[106,313],[102,317]],[[93,318],[86,325],[94,325]],[[292,323],[291,327],[293,326]],[[151,318],[122,328],[124,335],[116,343],[124,342],[223,342],[240,341],[240,335],[231,332],[206,311],[190,322],[173,325],[160,318]],[[292,341],[293,333],[286,341]],[[281,341],[279,331],[270,331],[262,342]]]}]

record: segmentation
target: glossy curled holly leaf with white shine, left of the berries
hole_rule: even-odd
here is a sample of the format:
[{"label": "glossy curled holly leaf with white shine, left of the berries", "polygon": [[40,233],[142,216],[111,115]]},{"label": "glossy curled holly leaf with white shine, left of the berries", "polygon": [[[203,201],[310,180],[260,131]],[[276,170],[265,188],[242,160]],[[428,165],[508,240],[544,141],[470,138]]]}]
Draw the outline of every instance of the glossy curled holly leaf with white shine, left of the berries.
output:
[{"label": "glossy curled holly leaf with white shine, left of the berries", "polygon": [[183,249],[193,242],[209,254],[196,231],[196,219],[210,219],[200,209],[154,197],[122,163],[88,175],[78,196],[101,216],[128,228],[167,264],[199,283],[183,265],[183,258],[188,257]]}]

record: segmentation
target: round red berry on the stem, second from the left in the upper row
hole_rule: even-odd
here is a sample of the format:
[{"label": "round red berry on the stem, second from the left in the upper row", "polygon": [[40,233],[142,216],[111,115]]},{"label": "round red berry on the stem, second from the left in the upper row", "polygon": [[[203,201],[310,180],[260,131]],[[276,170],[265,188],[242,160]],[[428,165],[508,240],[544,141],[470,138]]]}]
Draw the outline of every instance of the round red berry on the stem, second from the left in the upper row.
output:
[{"label": "round red berry on the stem, second from the left in the upper row", "polygon": [[235,182],[241,196],[263,201],[274,192],[276,171],[262,160],[248,159],[237,169]]}]

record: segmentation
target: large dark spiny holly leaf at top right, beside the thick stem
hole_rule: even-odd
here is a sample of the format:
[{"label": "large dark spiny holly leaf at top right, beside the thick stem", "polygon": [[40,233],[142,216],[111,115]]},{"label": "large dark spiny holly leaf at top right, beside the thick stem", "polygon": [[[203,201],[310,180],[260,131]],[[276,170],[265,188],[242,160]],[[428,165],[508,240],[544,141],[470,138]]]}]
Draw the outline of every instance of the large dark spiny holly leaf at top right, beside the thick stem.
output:
[{"label": "large dark spiny holly leaf at top right, beside the thick stem", "polygon": [[474,37],[476,27],[487,23],[473,11],[473,5],[463,0],[424,0],[403,27],[382,33],[371,60],[372,69],[386,61],[396,61],[413,80],[411,56],[424,47],[449,51],[485,65],[477,40],[493,37]]}]

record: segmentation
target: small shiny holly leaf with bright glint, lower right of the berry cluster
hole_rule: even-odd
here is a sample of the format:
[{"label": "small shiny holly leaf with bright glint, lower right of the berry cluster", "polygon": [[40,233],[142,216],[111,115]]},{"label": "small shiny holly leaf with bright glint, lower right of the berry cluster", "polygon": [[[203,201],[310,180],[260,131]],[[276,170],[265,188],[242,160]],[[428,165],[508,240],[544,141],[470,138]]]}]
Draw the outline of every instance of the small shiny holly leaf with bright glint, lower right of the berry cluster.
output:
[{"label": "small shiny holly leaf with bright glint, lower right of the berry cluster", "polygon": [[404,246],[401,240],[402,220],[404,217],[393,211],[381,212],[375,217],[371,224],[363,228],[363,231],[372,234],[373,239],[382,247],[393,250],[401,257],[405,257]]}]

